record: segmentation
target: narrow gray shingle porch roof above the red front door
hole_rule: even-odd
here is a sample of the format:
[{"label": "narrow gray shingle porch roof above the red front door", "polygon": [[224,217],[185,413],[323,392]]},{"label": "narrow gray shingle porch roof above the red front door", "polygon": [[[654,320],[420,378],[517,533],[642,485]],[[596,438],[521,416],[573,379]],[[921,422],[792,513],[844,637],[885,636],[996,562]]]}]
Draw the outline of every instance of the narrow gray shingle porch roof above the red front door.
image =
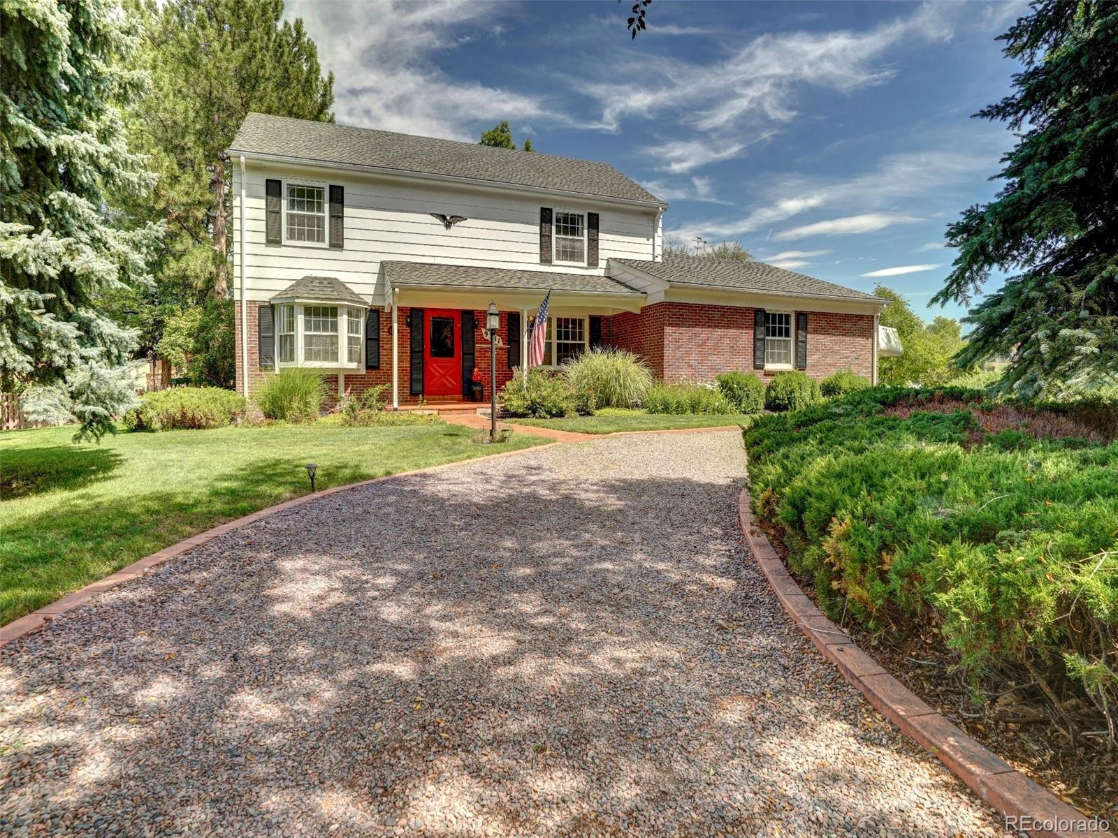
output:
[{"label": "narrow gray shingle porch roof above the red front door", "polygon": [[562,291],[642,296],[608,276],[559,274],[550,270],[480,268],[472,265],[432,265],[424,261],[382,261],[385,276],[395,286],[442,285],[451,287],[506,288],[509,291]]}]

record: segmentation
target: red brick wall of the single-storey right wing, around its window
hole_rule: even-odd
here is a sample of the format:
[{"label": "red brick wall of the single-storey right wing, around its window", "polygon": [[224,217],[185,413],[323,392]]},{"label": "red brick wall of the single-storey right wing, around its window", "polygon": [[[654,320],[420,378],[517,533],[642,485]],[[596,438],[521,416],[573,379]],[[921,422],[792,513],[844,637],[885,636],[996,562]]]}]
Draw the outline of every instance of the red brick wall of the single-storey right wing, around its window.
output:
[{"label": "red brick wall of the single-storey right wing, around its window", "polygon": [[[607,317],[603,337],[645,359],[665,381],[704,381],[727,370],[754,368],[754,311],[697,303],[655,303],[639,314]],[[807,313],[807,369],[812,378],[839,370],[873,374],[873,316]],[[758,371],[768,379],[776,372]]]}]

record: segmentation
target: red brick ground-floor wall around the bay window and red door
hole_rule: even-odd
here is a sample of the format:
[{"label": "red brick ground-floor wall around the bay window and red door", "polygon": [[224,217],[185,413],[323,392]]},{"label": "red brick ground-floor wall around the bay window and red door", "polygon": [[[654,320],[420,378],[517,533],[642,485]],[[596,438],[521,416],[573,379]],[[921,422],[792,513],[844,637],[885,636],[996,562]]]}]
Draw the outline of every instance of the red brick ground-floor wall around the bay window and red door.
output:
[{"label": "red brick ground-floor wall around the bay window and red door", "polygon": [[[267,374],[259,369],[258,353],[258,323],[259,306],[265,303],[248,303],[248,388],[249,392],[255,392]],[[419,398],[410,394],[411,381],[411,330],[408,326],[408,315],[410,308],[400,306],[399,317],[399,394],[401,404],[415,404]],[[474,320],[477,324],[474,335],[475,365],[479,371],[479,380],[482,382],[485,394],[484,400],[490,398],[490,352],[489,343],[482,340],[481,330],[485,324],[485,312],[474,312]],[[498,331],[501,342],[509,344],[509,316],[506,312],[501,312],[501,327]],[[240,306],[236,311],[236,337],[237,337],[237,391],[243,392],[243,370],[240,363]],[[519,362],[519,359],[515,359]],[[504,383],[512,378],[512,370],[509,369],[508,351],[498,349],[496,351],[496,385],[500,390]],[[338,403],[338,377],[328,375],[326,381],[330,388],[330,399],[328,407],[332,408]],[[361,370],[345,373],[345,390],[357,394],[363,392],[376,384],[387,383],[388,389],[382,394],[382,400],[391,403],[392,399],[392,315],[390,312],[381,312],[380,315],[380,369]]]}]

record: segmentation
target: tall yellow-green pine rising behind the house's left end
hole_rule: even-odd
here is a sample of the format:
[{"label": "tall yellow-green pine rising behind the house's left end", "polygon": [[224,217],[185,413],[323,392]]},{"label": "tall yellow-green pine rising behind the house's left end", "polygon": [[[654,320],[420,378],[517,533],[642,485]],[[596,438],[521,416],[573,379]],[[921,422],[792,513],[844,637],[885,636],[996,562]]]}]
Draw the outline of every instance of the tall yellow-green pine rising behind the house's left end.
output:
[{"label": "tall yellow-green pine rising behind the house's left end", "polygon": [[[158,174],[154,202],[132,207],[167,219],[157,278],[171,316],[229,285],[231,165],[226,150],[249,111],[332,122],[333,74],[283,0],[153,0],[130,6],[143,21],[138,65],[151,92],[130,109],[130,131]],[[152,335],[152,341],[158,335]]]}]

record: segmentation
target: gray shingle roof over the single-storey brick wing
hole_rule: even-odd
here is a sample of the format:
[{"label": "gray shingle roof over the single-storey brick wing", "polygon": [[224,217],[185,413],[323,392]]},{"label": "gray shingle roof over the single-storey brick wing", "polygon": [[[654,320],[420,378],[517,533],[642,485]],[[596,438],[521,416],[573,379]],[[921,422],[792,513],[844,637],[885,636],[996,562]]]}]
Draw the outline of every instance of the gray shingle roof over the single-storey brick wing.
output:
[{"label": "gray shingle roof over the single-storey brick wing", "polygon": [[872,294],[825,283],[794,270],[766,265],[764,261],[717,259],[709,256],[665,256],[663,261],[644,259],[610,259],[610,261],[636,268],[671,285],[885,302]]}]

